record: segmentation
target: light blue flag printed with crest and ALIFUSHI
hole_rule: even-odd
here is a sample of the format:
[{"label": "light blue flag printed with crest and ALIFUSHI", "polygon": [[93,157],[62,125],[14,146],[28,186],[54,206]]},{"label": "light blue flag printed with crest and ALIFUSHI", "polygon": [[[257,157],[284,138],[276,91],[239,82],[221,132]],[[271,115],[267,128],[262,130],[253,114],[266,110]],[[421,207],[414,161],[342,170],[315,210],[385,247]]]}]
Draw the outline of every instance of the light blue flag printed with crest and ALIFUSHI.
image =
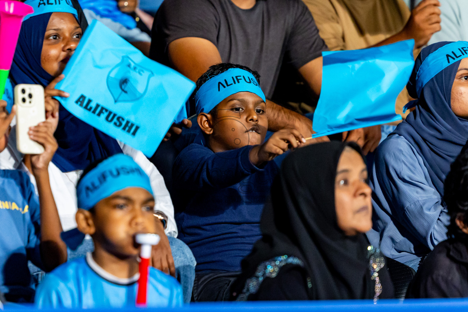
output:
[{"label": "light blue flag printed with crest and ALIFUSHI", "polygon": [[146,58],[93,21],[66,65],[57,98],[73,115],[151,157],[171,124],[187,117],[195,84]]}]

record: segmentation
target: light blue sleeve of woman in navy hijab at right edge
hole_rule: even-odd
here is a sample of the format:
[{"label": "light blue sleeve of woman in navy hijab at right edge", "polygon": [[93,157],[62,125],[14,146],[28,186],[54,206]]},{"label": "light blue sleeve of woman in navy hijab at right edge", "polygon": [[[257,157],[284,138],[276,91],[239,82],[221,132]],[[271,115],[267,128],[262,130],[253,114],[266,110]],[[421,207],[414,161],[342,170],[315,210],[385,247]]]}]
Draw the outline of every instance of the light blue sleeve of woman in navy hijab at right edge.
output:
[{"label": "light blue sleeve of woman in navy hijab at right edge", "polygon": [[416,153],[402,137],[385,140],[379,146],[373,179],[380,189],[375,195],[380,202],[387,202],[393,218],[422,244],[433,249],[446,240],[450,218]]}]

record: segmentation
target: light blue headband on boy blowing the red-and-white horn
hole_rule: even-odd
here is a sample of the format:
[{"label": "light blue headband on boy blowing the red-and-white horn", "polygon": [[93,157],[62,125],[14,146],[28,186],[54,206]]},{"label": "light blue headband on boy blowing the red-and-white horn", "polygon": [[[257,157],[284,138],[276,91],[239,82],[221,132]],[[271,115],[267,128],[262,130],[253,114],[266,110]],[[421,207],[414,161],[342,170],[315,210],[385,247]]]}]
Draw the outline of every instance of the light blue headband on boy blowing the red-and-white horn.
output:
[{"label": "light blue headband on boy blowing the red-and-white horn", "polygon": [[102,199],[126,188],[146,189],[153,195],[146,173],[129,156],[115,154],[88,172],[76,187],[78,208],[89,210]]}]

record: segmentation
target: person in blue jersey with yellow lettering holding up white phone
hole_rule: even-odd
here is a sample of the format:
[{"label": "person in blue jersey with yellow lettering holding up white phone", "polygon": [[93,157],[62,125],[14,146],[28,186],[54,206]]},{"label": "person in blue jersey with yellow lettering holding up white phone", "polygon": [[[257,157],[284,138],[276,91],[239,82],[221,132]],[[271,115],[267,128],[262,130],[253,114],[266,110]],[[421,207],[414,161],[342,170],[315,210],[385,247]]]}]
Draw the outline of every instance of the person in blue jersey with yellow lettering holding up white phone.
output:
[{"label": "person in blue jersey with yellow lettering holding up white phone", "polygon": [[[7,103],[0,101],[0,152],[7,147],[10,123],[15,116],[15,107],[11,113],[6,107]],[[58,116],[52,116],[29,130],[29,137],[44,146],[42,154],[28,155],[24,170],[0,170],[0,293],[7,301],[32,302],[34,284],[29,260],[46,271],[66,261],[48,172],[57,150],[53,136],[57,119]],[[26,170],[36,180],[38,197]]]}]

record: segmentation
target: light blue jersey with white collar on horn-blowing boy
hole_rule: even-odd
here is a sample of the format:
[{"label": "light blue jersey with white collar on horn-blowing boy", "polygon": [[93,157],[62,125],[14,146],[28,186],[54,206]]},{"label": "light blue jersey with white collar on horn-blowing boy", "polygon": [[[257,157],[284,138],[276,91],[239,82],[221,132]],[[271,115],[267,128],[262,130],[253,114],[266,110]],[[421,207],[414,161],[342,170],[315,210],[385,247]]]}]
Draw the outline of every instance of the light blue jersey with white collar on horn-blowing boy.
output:
[{"label": "light blue jersey with white collar on horn-blowing boy", "polygon": [[[135,306],[138,276],[128,279],[112,276],[93,260],[66,262],[47,274],[37,287],[39,308],[122,308]],[[150,268],[147,288],[148,307],[180,307],[182,287],[177,280]]]}]

